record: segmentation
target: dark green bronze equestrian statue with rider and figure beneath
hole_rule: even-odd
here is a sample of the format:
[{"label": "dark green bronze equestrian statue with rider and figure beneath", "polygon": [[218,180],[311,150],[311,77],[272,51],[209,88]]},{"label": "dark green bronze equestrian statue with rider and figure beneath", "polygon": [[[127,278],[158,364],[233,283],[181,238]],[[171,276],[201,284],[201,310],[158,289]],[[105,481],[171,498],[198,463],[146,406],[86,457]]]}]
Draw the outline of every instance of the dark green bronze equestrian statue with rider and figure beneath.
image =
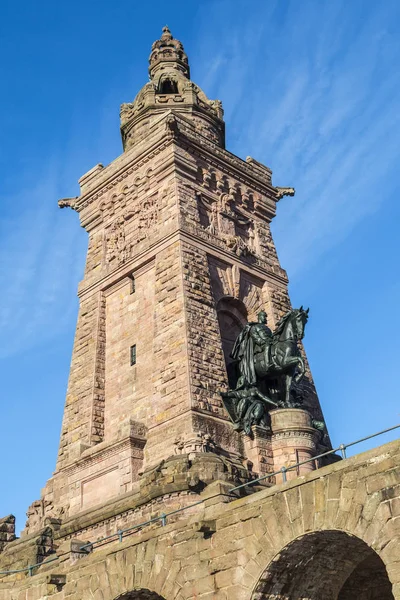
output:
[{"label": "dark green bronze equestrian statue with rider and figure beneath", "polygon": [[266,425],[272,407],[299,406],[291,399],[291,388],[305,373],[298,341],[304,337],[308,311],[302,306],[289,311],[272,332],[262,310],[257,322],[246,323],[240,332],[231,352],[237,365],[237,385],[221,392],[235,429],[251,435],[253,425]]}]

